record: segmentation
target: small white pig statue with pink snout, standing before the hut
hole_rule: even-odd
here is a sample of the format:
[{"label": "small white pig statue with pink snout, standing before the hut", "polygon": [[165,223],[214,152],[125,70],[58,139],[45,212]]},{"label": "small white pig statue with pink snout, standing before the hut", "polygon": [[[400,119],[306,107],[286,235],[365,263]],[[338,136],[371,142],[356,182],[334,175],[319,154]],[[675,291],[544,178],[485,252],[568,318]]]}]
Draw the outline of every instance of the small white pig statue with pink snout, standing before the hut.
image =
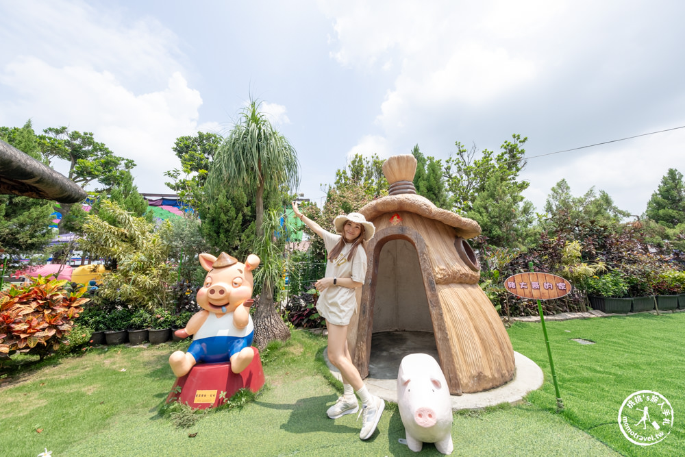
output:
[{"label": "small white pig statue with pink snout, standing before the hut", "polygon": [[452,453],[452,408],[447,380],[438,362],[428,354],[409,354],[397,373],[397,406],[414,452],[423,443],[435,443],[443,454]]}]

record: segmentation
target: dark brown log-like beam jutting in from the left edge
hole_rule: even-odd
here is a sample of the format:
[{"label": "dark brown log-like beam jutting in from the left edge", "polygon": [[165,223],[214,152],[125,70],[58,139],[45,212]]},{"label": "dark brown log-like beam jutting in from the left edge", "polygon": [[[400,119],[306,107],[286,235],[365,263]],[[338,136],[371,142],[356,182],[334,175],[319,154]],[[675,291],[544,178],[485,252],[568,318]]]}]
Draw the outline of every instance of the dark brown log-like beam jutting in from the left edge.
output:
[{"label": "dark brown log-like beam jutting in from the left edge", "polygon": [[88,195],[75,182],[0,140],[0,194],[76,203]]}]

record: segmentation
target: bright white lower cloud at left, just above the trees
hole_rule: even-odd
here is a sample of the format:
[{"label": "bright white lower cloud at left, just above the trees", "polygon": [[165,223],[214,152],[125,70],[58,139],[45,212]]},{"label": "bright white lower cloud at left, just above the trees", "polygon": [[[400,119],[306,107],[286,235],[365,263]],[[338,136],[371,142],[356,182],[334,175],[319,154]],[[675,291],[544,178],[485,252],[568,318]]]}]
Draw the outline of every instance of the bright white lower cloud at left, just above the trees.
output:
[{"label": "bright white lower cloud at left, just above the trees", "polygon": [[202,104],[180,73],[166,88],[136,95],[106,71],[27,58],[5,66],[0,83],[23,92],[11,109],[19,119],[32,118],[36,129],[68,125],[92,132],[116,155],[135,160],[136,184],[149,193],[167,191],[162,175],[177,160],[171,147],[177,136],[197,131]]}]

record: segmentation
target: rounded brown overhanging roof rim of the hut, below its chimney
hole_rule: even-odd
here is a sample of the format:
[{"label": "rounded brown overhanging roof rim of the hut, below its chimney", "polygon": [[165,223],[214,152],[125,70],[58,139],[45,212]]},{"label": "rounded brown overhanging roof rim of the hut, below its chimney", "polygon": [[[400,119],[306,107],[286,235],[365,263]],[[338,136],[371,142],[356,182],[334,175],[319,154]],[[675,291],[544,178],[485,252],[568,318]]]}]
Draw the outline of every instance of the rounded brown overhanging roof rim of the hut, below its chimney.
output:
[{"label": "rounded brown overhanging roof rim of the hut, below its chimney", "polygon": [[373,221],[381,214],[397,211],[410,211],[422,217],[440,221],[456,228],[459,236],[464,239],[473,238],[480,234],[480,225],[473,219],[467,219],[454,212],[438,208],[432,201],[417,194],[388,195],[367,203],[364,208],[359,210],[360,213],[364,214],[367,221]]}]

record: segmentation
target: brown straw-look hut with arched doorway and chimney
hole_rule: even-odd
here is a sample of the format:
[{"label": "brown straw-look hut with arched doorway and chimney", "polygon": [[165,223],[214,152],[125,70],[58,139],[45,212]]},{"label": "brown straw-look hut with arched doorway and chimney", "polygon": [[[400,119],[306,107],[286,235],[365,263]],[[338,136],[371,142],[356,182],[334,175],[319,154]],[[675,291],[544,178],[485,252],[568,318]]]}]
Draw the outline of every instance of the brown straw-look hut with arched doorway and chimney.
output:
[{"label": "brown straw-look hut with arched doorway and chimney", "polygon": [[[452,395],[510,381],[514,351],[490,300],[478,286],[480,265],[466,241],[477,222],[416,195],[416,159],[386,160],[387,197],[360,210],[376,234],[366,246],[369,268],[348,346],[362,378],[369,375],[373,334],[432,332]],[[411,334],[408,333],[408,337]]]}]

